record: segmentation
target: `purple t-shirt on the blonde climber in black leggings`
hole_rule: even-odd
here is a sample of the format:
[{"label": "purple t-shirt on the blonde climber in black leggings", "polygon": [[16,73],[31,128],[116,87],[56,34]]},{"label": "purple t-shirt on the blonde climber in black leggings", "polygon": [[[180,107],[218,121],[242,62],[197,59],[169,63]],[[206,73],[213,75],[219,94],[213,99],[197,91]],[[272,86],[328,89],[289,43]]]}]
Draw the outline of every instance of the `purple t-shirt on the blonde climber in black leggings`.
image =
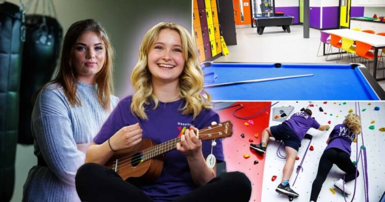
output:
[{"label": "purple t-shirt on the blonde climber in black leggings", "polygon": [[330,141],[325,150],[330,148],[338,148],[350,155],[351,153],[351,142],[356,138],[354,134],[345,124],[338,124],[334,126],[333,130],[330,132]]}]

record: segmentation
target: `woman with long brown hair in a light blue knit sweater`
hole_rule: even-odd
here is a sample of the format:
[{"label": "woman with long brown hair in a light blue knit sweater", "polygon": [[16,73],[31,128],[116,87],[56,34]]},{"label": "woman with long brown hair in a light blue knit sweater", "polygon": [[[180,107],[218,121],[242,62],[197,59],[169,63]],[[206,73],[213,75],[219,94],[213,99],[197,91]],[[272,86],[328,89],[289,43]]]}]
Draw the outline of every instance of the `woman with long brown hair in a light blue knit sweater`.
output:
[{"label": "woman with long brown hair in a light blue knit sweater", "polygon": [[38,165],[24,184],[23,201],[80,201],[75,175],[85,151],[118,103],[112,93],[113,49],[92,19],[68,29],[55,79],[38,93],[32,132]]}]

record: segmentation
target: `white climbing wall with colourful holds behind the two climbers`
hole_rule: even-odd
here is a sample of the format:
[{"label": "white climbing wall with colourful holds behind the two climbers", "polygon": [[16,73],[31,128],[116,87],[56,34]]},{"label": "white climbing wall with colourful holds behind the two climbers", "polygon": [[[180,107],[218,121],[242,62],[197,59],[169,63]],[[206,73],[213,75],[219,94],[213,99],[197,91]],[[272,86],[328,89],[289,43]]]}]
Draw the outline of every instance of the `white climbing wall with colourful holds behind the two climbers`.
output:
[{"label": "white climbing wall with colourful holds behind the two climbers", "polygon": [[[310,104],[313,105],[313,107],[309,107],[309,109],[313,112],[313,117],[315,117],[315,119],[323,125],[328,124],[328,121],[330,121],[331,128],[333,128],[336,124],[342,123],[344,116],[348,114],[349,110],[351,110],[352,113],[361,113],[363,138],[366,146],[368,163],[368,197],[369,201],[378,201],[385,191],[383,185],[383,176],[385,176],[385,169],[383,169],[385,167],[385,132],[379,130],[379,128],[385,127],[385,102],[280,102],[277,106],[293,106],[293,112],[288,115],[290,117],[293,113],[300,111],[301,108],[307,108]],[[324,112],[320,112],[319,107],[322,107]],[[379,107],[379,110],[376,111],[375,107]],[[271,114],[269,126],[279,124],[279,122],[273,121],[273,119],[274,115]],[[370,126],[374,126],[374,129],[370,129]],[[326,140],[329,137],[329,132],[330,130],[319,131],[313,128],[308,131],[308,133],[313,136],[311,146],[313,146],[314,150],[307,152],[302,165],[303,171],[299,172],[297,180],[294,186],[292,186],[292,188],[300,194],[300,196],[298,198],[294,198],[293,201],[309,201],[312,182],[317,174],[319,159],[327,146]],[[294,172],[292,178],[290,179],[290,184],[293,184],[296,179],[296,168],[300,164],[309,142],[310,140],[307,139],[302,141],[302,146],[298,153],[300,159],[297,160],[294,165]],[[361,136],[358,136],[358,143],[352,143],[351,145],[352,153],[350,158],[352,161],[356,161],[357,144],[360,150],[362,145]],[[279,142],[274,141],[274,139],[271,138],[265,156],[261,201],[288,200],[286,195],[275,192],[275,188],[281,181],[282,169],[285,162],[284,160],[278,158],[276,154],[278,147]],[[281,153],[285,155],[283,146],[280,149]],[[358,170],[360,172],[360,176],[357,179],[356,195],[353,201],[365,201],[364,175],[361,159],[358,163]],[[345,201],[341,192],[339,190],[335,190],[333,186],[338,179],[343,177],[343,174],[344,173],[339,170],[336,165],[333,165],[328,178],[323,184],[317,201]],[[272,181],[272,176],[277,176],[275,181]],[[351,192],[354,191],[354,184],[354,181],[346,184]],[[330,188],[332,188],[332,191]],[[346,197],[347,201],[350,201],[351,199],[352,196]]]}]

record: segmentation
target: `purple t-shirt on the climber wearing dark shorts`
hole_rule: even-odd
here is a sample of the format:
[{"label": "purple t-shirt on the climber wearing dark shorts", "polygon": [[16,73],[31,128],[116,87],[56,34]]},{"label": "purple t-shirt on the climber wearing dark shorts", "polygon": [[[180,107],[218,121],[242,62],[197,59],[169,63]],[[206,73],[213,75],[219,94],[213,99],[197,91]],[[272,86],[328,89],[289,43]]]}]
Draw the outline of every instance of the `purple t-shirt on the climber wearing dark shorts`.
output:
[{"label": "purple t-shirt on the climber wearing dark shorts", "polygon": [[305,112],[297,112],[285,120],[283,123],[287,124],[297,134],[300,141],[305,137],[306,132],[310,128],[318,129],[320,124]]}]

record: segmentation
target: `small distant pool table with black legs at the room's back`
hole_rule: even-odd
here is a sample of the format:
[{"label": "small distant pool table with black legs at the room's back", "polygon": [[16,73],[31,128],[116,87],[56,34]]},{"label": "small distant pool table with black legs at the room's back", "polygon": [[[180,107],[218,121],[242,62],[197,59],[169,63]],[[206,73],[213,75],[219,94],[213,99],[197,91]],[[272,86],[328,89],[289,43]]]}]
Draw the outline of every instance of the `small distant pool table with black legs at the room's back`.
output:
[{"label": "small distant pool table with black legs at the room's back", "polygon": [[256,32],[262,35],[265,27],[282,26],[283,31],[290,33],[290,25],[293,25],[294,17],[292,16],[274,16],[274,17],[253,17],[256,25]]}]

